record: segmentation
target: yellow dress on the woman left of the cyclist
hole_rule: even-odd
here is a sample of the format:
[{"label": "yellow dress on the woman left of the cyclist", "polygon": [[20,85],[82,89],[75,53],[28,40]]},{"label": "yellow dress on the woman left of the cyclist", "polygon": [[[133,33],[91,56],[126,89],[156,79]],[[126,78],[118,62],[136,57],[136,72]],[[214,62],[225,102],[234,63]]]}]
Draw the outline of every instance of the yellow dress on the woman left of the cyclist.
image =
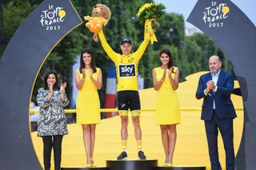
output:
[{"label": "yellow dress on the woman left of the cyclist", "polygon": [[[93,73],[94,80],[98,80],[98,71]],[[77,69],[80,78],[82,73]],[[98,97],[98,89],[89,77],[90,69],[86,69],[86,79],[82,85],[82,89],[78,92],[76,109],[77,123],[81,125],[98,124],[101,120],[100,102]]]}]

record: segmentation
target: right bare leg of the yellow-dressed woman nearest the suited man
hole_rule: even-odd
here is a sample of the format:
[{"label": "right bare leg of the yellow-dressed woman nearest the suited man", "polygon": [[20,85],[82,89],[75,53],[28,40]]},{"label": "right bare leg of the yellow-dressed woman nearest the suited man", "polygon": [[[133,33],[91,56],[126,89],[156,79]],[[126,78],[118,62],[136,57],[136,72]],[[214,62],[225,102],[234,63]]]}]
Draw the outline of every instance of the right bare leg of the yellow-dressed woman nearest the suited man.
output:
[{"label": "right bare leg of the yellow-dressed woman nearest the suited man", "polygon": [[177,138],[176,125],[169,125],[169,164],[173,164],[174,148]]}]

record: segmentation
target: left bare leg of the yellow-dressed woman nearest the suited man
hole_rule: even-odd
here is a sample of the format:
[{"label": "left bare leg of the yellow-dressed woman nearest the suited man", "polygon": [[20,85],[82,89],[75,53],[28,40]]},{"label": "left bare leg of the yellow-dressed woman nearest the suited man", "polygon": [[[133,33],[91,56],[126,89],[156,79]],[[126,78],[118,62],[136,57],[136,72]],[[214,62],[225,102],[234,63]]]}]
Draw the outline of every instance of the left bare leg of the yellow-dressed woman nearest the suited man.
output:
[{"label": "left bare leg of the yellow-dressed woman nearest the suited man", "polygon": [[166,153],[166,160],[165,164],[169,162],[169,135],[168,135],[168,128],[169,125],[160,125],[161,128],[161,136],[162,136],[162,146]]}]

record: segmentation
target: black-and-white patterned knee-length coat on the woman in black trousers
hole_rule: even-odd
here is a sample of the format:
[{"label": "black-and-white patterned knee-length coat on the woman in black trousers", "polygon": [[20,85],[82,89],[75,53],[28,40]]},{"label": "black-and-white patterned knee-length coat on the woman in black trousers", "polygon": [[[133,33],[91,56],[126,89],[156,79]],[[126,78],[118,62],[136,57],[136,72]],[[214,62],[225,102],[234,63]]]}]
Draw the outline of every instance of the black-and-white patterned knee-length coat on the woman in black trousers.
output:
[{"label": "black-and-white patterned knee-length coat on the woman in black trousers", "polygon": [[37,102],[40,106],[38,119],[38,136],[56,136],[68,134],[66,126],[66,116],[64,107],[69,104],[65,93],[64,102],[62,102],[61,91],[54,89],[50,101],[46,98],[49,95],[49,89],[38,89]]}]

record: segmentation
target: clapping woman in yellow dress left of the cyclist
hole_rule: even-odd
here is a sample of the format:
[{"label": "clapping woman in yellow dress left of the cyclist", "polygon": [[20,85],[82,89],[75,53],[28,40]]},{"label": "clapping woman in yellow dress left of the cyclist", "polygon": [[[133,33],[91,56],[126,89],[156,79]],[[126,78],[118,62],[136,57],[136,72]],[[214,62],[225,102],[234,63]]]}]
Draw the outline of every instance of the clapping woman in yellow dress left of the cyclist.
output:
[{"label": "clapping woman in yellow dress left of the cyclist", "polygon": [[102,88],[102,71],[95,66],[90,49],[84,49],[80,57],[80,68],[75,73],[78,88],[76,102],[77,123],[82,125],[86,149],[86,167],[93,167],[96,124],[100,123],[100,101],[98,89]]}]

